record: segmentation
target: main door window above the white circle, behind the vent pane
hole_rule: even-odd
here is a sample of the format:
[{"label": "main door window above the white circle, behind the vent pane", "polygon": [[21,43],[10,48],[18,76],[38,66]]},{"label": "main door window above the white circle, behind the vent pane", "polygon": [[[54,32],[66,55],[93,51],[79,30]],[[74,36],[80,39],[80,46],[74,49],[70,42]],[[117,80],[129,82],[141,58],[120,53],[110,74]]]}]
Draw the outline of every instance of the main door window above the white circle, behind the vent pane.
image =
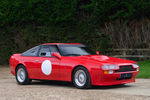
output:
[{"label": "main door window above the white circle, behind the vent pane", "polygon": [[39,56],[42,56],[42,57],[51,57],[51,53],[50,53],[50,49],[48,46],[43,46],[41,49],[40,49],[40,52],[39,52]]}]

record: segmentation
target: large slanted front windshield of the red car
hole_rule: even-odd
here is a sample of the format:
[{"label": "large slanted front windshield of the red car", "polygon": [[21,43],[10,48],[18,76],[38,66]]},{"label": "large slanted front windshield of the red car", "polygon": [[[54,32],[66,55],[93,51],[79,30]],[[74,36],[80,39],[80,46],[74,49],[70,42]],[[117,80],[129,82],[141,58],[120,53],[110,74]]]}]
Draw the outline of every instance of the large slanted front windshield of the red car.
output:
[{"label": "large slanted front windshield of the red car", "polygon": [[59,49],[62,56],[95,55],[92,50],[84,45],[60,45]]}]

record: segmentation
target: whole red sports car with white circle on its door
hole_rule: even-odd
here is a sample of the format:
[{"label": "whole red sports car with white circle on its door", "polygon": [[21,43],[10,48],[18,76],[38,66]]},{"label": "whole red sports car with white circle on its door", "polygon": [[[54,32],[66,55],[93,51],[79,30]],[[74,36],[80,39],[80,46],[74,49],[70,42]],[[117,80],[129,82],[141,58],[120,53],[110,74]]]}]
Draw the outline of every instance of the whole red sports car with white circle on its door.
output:
[{"label": "whole red sports car with white circle on its door", "polygon": [[47,43],[13,54],[10,68],[19,84],[59,80],[77,88],[135,82],[139,72],[135,61],[99,55],[80,43]]}]

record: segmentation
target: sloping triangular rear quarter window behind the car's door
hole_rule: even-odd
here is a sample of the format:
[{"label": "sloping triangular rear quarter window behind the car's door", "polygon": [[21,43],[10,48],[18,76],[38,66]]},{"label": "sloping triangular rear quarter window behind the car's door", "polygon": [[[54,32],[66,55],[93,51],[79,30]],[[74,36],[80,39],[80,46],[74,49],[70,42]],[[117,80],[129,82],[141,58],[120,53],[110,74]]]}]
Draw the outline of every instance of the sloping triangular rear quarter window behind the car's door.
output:
[{"label": "sloping triangular rear quarter window behind the car's door", "polygon": [[39,46],[33,47],[22,53],[22,56],[37,56],[39,48],[40,48]]}]

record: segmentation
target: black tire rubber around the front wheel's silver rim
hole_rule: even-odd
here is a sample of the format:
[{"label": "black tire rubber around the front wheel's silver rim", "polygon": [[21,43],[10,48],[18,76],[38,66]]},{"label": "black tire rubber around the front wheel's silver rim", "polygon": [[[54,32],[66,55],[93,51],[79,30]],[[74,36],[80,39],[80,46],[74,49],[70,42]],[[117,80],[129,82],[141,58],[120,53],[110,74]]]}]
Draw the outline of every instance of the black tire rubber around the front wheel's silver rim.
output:
[{"label": "black tire rubber around the front wheel's silver rim", "polygon": [[[83,86],[78,86],[75,82],[75,73],[78,71],[78,70],[83,70],[86,74],[86,83],[83,85]],[[72,76],[72,81],[73,81],[73,84],[75,87],[79,88],[79,89],[88,89],[91,87],[91,76],[88,72],[88,70],[84,67],[77,67],[74,71],[73,71],[73,76]]]}]

